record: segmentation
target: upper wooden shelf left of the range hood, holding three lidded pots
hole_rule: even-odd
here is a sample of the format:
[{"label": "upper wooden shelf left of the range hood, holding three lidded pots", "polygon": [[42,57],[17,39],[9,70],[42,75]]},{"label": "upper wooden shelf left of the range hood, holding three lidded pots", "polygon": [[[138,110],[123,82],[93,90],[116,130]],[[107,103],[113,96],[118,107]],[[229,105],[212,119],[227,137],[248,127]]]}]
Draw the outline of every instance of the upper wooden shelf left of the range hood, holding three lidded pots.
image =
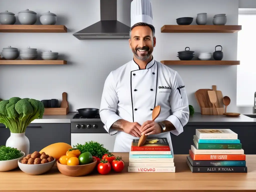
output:
[{"label": "upper wooden shelf left of the range hood, holding three lidded pots", "polygon": [[65,25],[0,25],[1,33],[67,33]]}]

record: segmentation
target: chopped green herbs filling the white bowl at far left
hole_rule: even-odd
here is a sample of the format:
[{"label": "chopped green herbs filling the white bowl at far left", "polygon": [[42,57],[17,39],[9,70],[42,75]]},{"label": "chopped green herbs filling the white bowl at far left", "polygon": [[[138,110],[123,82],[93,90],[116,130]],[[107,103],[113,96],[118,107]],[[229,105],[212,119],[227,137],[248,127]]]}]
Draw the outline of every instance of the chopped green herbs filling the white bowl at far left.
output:
[{"label": "chopped green herbs filling the white bowl at far left", "polygon": [[0,161],[12,160],[22,157],[20,150],[13,147],[0,146]]}]

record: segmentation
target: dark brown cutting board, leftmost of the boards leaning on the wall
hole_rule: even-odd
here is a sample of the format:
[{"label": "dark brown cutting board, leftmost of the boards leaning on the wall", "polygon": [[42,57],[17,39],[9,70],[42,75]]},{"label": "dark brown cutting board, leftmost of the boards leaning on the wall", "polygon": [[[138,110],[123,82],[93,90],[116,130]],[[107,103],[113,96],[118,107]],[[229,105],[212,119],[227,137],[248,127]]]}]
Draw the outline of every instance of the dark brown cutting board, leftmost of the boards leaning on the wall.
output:
[{"label": "dark brown cutting board, leftmost of the boards leaning on the wall", "polygon": [[195,97],[200,108],[212,108],[212,103],[209,99],[208,91],[212,91],[212,89],[198,89],[195,92]]}]

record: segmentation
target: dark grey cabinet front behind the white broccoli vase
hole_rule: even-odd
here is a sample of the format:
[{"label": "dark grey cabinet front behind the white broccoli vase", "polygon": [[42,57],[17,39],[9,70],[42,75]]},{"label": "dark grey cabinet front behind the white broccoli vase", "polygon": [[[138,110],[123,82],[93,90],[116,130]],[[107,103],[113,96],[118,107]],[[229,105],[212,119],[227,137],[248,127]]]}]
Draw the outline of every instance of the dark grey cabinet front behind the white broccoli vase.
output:
[{"label": "dark grey cabinet front behind the white broccoli vase", "polygon": [[[29,139],[29,153],[58,142],[71,144],[70,123],[30,123],[25,135]],[[10,130],[0,124],[0,145],[5,145]]]}]

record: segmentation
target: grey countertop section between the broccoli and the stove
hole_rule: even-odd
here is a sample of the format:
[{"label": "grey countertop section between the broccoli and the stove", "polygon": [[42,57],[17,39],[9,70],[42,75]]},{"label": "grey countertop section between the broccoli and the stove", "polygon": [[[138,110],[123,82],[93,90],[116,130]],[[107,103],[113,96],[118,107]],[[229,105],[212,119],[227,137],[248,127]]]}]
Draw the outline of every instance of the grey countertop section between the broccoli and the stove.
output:
[{"label": "grey countertop section between the broccoli and the stove", "polygon": [[67,115],[43,115],[42,119],[35,119],[31,123],[70,123],[76,112],[69,112]]}]

